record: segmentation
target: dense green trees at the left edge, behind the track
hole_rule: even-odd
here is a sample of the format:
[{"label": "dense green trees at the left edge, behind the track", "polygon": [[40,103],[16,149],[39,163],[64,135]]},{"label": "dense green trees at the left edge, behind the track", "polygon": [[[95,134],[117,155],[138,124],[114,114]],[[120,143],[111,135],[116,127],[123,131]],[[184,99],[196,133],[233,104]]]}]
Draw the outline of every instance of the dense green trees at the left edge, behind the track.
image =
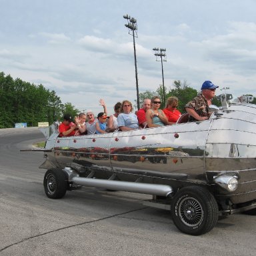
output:
[{"label": "dense green trees at the left edge, behind the track", "polygon": [[53,123],[63,113],[77,114],[71,103],[63,104],[55,91],[34,85],[0,72],[0,128],[11,128],[15,123],[37,126],[38,122]]}]

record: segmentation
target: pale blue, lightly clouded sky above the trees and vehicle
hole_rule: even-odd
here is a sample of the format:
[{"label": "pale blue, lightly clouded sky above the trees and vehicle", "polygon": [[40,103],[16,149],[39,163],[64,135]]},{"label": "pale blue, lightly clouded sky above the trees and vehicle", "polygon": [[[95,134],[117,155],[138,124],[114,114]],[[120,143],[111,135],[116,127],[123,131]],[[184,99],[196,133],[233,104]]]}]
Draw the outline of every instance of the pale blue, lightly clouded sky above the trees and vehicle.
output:
[{"label": "pale blue, lightly clouded sky above the trees and vehicle", "polygon": [[[42,84],[79,111],[108,113],[117,101],[136,105],[139,92],[162,82],[153,48],[166,49],[166,90],[203,81],[233,97],[256,96],[255,0],[0,0],[0,72]],[[226,89],[229,88],[229,89]]]}]

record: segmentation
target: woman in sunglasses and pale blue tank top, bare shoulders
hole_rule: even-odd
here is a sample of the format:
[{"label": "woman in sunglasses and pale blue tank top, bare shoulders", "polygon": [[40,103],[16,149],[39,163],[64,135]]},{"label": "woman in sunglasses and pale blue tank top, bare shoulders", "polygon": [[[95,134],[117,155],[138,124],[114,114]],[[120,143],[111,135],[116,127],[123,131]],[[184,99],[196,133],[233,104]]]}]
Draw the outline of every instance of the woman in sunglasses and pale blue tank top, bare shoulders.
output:
[{"label": "woman in sunglasses and pale blue tank top, bare shoulders", "polygon": [[161,100],[158,96],[151,99],[151,109],[146,112],[147,125],[151,127],[159,127],[168,124],[168,119],[165,113],[159,109],[161,106]]}]

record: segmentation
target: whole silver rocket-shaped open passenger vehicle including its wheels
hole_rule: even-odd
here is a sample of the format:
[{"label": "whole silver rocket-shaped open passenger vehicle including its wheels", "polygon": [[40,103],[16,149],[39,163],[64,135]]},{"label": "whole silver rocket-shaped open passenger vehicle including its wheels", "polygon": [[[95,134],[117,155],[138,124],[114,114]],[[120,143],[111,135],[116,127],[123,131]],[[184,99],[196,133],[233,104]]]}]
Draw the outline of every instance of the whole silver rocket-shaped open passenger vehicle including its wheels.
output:
[{"label": "whole silver rocket-shaped open passenger vehicle including its wheels", "polygon": [[255,211],[256,105],[219,97],[206,121],[77,137],[58,137],[57,123],[41,129],[47,197],[81,186],[150,194],[144,204],[169,209],[190,235],[213,229],[219,215]]}]

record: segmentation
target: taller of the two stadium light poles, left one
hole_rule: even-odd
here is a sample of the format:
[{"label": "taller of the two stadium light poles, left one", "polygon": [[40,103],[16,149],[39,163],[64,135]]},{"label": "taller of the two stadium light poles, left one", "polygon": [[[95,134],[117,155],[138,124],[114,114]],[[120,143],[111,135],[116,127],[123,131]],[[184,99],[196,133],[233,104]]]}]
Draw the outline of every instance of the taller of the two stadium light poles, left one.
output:
[{"label": "taller of the two stadium light poles, left one", "polygon": [[[137,35],[137,20],[133,17],[123,15],[124,19],[127,19],[128,23],[125,24],[125,27],[128,28],[129,35],[133,36],[133,51],[134,51],[134,62],[135,62],[135,78],[136,78],[136,91],[137,91],[137,107],[139,109],[139,84],[138,84],[138,72],[137,72],[137,59],[136,59],[136,48],[135,48],[135,37]],[[132,33],[131,33],[132,31]]]}]

